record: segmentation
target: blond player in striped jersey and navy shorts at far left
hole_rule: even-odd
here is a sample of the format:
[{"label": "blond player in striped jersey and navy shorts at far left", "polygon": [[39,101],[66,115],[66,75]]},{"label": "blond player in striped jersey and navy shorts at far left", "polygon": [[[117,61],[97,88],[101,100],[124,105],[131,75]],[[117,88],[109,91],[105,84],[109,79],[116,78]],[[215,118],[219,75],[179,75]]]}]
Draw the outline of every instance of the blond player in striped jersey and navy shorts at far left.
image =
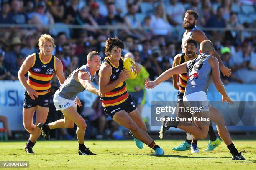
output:
[{"label": "blond player in striped jersey and navy shorts at far left", "polygon": [[[38,43],[40,52],[26,57],[20,67],[18,78],[25,88],[23,104],[23,125],[30,133],[25,146],[27,153],[34,153],[33,146],[41,134],[36,128],[39,122],[45,122],[49,111],[51,79],[56,74],[59,82],[65,81],[61,60],[51,55],[54,50],[54,39],[51,35],[42,34]],[[25,74],[28,72],[28,80]],[[36,125],[33,124],[33,115],[36,111]]]}]

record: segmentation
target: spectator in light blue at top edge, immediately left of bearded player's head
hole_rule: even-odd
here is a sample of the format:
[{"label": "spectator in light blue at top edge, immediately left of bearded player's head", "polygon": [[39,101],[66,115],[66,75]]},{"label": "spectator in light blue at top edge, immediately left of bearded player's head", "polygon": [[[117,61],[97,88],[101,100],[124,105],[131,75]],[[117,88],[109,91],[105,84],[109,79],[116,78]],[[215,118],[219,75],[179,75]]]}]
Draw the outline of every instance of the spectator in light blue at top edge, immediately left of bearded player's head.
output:
[{"label": "spectator in light blue at top edge, immediately left of bearded player's head", "polygon": [[177,0],[169,0],[170,4],[166,5],[167,19],[171,25],[182,26],[185,7],[182,3]]}]

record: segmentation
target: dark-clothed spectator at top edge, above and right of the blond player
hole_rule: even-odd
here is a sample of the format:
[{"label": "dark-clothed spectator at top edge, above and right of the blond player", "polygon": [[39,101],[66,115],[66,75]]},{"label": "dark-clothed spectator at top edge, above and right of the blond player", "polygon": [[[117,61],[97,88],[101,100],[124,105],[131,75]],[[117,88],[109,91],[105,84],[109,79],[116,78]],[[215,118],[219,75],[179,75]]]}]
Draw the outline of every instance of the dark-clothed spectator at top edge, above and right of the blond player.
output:
[{"label": "dark-clothed spectator at top edge, above and right of the blond player", "polygon": [[64,5],[60,3],[60,0],[52,0],[52,4],[49,7],[49,11],[54,18],[54,22],[59,23],[64,21]]}]

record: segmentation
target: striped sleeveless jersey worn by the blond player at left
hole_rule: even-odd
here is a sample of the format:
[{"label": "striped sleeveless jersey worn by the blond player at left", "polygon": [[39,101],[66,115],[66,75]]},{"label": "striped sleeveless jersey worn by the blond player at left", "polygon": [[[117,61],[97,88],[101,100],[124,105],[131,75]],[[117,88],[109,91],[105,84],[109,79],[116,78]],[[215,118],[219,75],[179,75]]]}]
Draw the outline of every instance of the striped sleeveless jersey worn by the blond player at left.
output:
[{"label": "striped sleeveless jersey worn by the blond player at left", "polygon": [[28,70],[28,85],[38,92],[38,95],[45,95],[51,90],[51,79],[56,72],[56,57],[51,55],[49,61],[44,62],[41,55],[34,54],[34,63]]}]

